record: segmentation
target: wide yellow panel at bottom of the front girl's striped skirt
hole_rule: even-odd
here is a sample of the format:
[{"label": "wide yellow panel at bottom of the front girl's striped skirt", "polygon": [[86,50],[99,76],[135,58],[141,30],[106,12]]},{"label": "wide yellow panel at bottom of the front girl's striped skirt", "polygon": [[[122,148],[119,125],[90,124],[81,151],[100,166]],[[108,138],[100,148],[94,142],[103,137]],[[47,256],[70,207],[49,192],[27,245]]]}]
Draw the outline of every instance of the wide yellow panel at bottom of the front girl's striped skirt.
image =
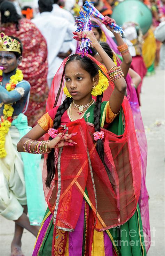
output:
[{"label": "wide yellow panel at bottom of the front girl's striped skirt", "polygon": [[105,256],[104,248],[104,233],[97,232],[94,229],[93,243],[92,243],[92,256]]}]

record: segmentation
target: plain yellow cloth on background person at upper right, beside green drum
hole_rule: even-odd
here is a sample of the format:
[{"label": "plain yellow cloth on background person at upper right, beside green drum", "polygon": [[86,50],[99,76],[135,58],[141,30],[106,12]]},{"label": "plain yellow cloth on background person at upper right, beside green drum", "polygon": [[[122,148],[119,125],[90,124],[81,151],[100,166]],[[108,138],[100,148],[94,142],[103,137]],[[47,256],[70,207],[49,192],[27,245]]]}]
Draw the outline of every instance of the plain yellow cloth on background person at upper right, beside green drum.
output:
[{"label": "plain yellow cloth on background person at upper right, beside green drum", "polygon": [[155,60],[156,55],[156,39],[152,29],[148,30],[148,36],[144,39],[142,45],[142,56],[146,67],[149,68]]}]

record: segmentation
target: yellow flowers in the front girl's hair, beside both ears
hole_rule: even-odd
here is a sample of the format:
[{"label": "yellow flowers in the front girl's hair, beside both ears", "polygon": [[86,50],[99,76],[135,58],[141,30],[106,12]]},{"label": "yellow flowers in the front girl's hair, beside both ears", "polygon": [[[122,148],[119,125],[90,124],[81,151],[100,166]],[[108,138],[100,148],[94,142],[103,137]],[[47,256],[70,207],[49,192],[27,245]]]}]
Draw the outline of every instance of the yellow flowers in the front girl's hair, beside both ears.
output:
[{"label": "yellow flowers in the front girl's hair, beside both ears", "polygon": [[[99,83],[95,86],[95,88],[92,89],[91,94],[93,96],[102,95],[102,93],[105,90],[107,90],[108,86],[109,86],[108,78],[99,69]],[[69,98],[72,97],[68,89],[66,88],[66,84],[64,86],[64,94],[66,97],[69,97]]]}]

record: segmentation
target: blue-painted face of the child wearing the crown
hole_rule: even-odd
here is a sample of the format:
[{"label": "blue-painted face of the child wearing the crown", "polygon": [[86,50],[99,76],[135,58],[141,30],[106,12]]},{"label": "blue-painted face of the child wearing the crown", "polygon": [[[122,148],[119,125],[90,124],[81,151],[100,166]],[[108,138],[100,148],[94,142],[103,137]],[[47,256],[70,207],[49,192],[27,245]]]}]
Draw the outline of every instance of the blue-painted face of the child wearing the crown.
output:
[{"label": "blue-painted face of the child wearing the crown", "polygon": [[0,51],[0,66],[2,66],[3,73],[13,71],[18,65],[18,60],[13,52]]}]

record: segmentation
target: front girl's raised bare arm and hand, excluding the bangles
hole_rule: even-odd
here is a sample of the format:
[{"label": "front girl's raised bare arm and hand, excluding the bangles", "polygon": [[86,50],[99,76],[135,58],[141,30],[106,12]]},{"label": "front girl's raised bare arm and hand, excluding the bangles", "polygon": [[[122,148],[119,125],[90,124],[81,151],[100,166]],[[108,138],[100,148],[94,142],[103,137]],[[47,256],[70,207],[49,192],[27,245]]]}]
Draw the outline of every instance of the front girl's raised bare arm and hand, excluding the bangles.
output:
[{"label": "front girl's raised bare arm and hand, excluding the bangles", "polygon": [[[81,32],[73,32],[75,35],[73,38],[76,40],[79,40],[82,37],[89,38],[91,40],[92,46],[96,49],[96,51],[99,53],[101,59],[103,60],[103,63],[107,70],[111,69],[115,66],[115,63],[111,60],[111,58],[108,56],[108,54],[103,50],[99,42],[97,41],[93,31],[86,32],[86,35],[82,35]],[[80,39],[81,40],[81,39]],[[110,99],[109,104],[111,107],[111,110],[114,114],[117,114],[120,110],[121,104],[124,99],[125,91],[126,91],[126,82],[124,77],[121,77],[114,81],[115,89],[113,90]]]}]

